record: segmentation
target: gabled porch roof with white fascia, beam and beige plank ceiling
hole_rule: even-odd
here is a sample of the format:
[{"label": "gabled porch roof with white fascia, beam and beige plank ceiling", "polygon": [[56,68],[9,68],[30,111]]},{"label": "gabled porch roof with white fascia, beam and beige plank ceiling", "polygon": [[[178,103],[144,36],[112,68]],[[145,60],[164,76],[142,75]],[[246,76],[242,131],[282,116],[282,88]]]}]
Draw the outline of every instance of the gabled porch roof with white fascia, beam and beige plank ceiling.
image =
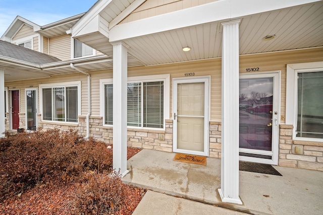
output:
[{"label": "gabled porch roof with white fascia, beam and beige plank ceiling", "polygon": [[[165,1],[165,5],[173,2],[168,5],[173,4],[170,8],[174,11],[151,13],[148,17],[143,12],[143,18],[137,14],[139,19],[120,23],[124,15],[131,13],[130,8],[134,9],[132,5],[144,2],[129,0],[132,3],[120,10],[118,5],[124,1],[127,0],[98,1],[73,26],[72,37],[111,57],[112,44],[122,41],[133,59],[132,65],[221,57],[222,24],[234,20],[240,20],[240,55],[323,46],[323,1],[200,1],[204,3],[178,9],[176,1]],[[151,1],[143,8],[153,9],[148,3]],[[190,52],[182,51],[186,46]]]}]

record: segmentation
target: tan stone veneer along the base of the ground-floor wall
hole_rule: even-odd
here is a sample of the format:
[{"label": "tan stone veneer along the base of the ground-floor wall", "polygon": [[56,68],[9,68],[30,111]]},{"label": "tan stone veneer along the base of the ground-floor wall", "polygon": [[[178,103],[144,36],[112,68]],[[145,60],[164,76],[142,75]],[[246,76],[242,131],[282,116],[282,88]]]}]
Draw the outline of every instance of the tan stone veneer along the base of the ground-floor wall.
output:
[{"label": "tan stone veneer along the base of the ground-floor wall", "polygon": [[[9,114],[8,114],[9,115]],[[6,130],[9,120],[6,119]],[[25,113],[19,113],[20,128],[25,128]],[[77,129],[86,136],[86,117],[79,116],[79,124],[42,122],[37,114],[38,126],[43,129]],[[90,116],[90,136],[106,144],[113,144],[113,127],[103,126],[100,116]],[[173,152],[173,120],[165,120],[165,130],[128,128],[127,146]],[[221,122],[209,123],[209,157],[221,158]],[[301,169],[323,171],[323,142],[299,141],[292,139],[293,125],[280,125],[278,165]]]}]

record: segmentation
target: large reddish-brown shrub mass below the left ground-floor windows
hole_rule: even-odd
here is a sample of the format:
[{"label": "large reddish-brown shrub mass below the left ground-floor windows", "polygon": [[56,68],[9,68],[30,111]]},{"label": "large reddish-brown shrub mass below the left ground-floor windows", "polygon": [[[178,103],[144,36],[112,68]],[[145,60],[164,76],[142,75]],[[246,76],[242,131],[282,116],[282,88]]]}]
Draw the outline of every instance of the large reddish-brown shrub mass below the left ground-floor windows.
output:
[{"label": "large reddish-brown shrub mass below the left ground-floor windows", "polygon": [[0,139],[0,201],[47,180],[77,179],[83,171],[112,167],[104,142],[84,140],[76,130],[49,129]]}]

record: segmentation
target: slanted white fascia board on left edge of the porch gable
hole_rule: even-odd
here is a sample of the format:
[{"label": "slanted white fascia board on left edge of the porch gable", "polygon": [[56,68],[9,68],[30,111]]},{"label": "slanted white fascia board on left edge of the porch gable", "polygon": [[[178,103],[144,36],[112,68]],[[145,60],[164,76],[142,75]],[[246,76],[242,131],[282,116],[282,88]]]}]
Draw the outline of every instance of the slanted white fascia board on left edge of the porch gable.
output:
[{"label": "slanted white fascia board on left edge of the porch gable", "polygon": [[[89,23],[92,22],[95,17],[99,15],[113,0],[98,1],[90,8],[88,12],[72,27],[72,37],[81,36],[80,31],[89,27]],[[109,26],[108,26],[109,27]],[[82,34],[83,35],[83,34]]]}]

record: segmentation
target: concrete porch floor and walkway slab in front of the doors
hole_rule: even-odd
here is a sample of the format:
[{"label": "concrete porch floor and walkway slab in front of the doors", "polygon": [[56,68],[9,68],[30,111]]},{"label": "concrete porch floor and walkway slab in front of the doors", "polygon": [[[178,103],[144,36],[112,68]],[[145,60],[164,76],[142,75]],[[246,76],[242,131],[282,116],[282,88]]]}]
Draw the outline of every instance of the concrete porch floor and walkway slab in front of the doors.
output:
[{"label": "concrete porch floor and walkway slab in front of the doors", "polygon": [[174,156],[142,150],[128,160],[122,181],[153,191],[134,214],[322,214],[323,172],[278,166],[283,176],[239,171],[239,205],[221,201],[221,159],[207,158],[203,166]]}]

